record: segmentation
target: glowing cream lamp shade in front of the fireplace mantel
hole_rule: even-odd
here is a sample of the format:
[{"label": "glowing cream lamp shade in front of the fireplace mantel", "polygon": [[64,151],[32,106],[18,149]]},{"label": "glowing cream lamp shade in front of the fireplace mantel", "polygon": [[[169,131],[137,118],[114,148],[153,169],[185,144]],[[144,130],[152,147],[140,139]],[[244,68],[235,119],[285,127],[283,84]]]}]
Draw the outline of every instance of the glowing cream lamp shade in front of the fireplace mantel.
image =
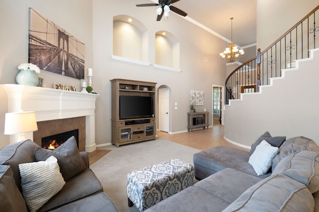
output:
[{"label": "glowing cream lamp shade in front of the fireplace mantel", "polygon": [[5,114],[4,134],[13,135],[37,131],[34,112],[13,112]]}]

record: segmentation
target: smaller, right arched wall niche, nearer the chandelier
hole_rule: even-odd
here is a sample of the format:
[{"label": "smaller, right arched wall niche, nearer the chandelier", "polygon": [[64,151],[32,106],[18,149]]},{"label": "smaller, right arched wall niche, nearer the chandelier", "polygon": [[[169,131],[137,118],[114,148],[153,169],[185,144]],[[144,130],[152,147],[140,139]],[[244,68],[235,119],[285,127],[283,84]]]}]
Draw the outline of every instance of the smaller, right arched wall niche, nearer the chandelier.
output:
[{"label": "smaller, right arched wall niche, nearer the chandelier", "polygon": [[167,31],[155,35],[155,64],[179,70],[179,40]]}]

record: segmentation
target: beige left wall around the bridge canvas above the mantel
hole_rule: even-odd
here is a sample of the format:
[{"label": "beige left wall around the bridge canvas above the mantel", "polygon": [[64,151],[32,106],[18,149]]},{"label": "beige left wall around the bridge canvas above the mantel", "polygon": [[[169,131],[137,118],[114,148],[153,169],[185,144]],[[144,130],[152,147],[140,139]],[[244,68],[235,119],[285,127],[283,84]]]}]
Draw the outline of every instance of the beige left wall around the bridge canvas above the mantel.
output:
[{"label": "beige left wall around the bridge canvas above the mantel", "polygon": [[[93,66],[92,0],[1,0],[0,1],[0,84],[15,84],[16,67],[28,62],[29,7],[85,43],[85,71]],[[77,86],[80,80],[49,71],[41,71],[47,87],[52,83]],[[4,132],[7,96],[0,88],[0,147],[9,144]]]}]

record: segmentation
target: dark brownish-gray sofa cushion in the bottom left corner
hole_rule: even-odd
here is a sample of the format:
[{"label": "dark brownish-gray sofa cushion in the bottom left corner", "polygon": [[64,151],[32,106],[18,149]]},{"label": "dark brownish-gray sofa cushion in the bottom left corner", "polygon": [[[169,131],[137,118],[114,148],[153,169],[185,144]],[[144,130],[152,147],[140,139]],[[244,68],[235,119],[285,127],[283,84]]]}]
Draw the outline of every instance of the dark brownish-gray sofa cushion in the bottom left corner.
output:
[{"label": "dark brownish-gray sofa cushion in the bottom left corner", "polygon": [[15,185],[8,165],[0,165],[0,211],[27,212],[23,197]]}]

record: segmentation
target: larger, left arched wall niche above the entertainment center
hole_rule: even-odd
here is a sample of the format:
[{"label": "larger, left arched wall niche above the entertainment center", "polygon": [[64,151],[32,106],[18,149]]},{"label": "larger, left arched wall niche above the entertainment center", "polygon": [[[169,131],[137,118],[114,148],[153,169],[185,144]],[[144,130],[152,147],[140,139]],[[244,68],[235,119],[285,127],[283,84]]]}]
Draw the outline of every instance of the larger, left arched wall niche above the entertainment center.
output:
[{"label": "larger, left arched wall niche above the entertainment center", "polygon": [[128,15],[113,17],[113,55],[137,61],[149,60],[146,26]]}]

